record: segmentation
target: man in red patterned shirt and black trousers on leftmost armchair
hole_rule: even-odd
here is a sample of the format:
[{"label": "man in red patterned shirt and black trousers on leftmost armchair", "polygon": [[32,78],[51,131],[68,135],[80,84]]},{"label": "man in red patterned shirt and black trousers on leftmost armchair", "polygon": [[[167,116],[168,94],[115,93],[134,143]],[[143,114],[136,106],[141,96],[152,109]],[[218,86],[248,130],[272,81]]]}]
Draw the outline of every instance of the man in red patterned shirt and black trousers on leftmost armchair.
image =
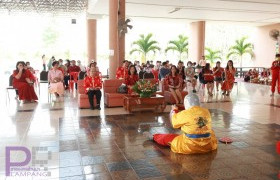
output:
[{"label": "man in red patterned shirt and black trousers on leftmost armchair", "polygon": [[85,77],[84,88],[86,90],[86,94],[88,95],[90,109],[94,110],[95,108],[93,98],[96,96],[96,109],[100,110],[102,79],[99,76],[99,72],[96,71],[96,68],[91,68],[89,76]]}]

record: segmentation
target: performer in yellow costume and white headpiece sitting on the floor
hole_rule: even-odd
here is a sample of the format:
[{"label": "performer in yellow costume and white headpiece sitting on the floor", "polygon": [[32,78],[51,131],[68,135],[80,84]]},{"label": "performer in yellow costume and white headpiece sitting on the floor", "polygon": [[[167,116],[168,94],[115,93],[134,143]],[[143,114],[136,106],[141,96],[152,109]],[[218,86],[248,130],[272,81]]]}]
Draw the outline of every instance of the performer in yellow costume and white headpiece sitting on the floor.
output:
[{"label": "performer in yellow costume and white headpiece sitting on the floor", "polygon": [[217,149],[217,139],[211,127],[211,115],[208,109],[200,107],[196,94],[189,94],[184,100],[185,110],[171,111],[171,123],[181,128],[182,134],[154,134],[146,136],[158,144],[171,146],[171,150],[181,154],[206,153]]}]

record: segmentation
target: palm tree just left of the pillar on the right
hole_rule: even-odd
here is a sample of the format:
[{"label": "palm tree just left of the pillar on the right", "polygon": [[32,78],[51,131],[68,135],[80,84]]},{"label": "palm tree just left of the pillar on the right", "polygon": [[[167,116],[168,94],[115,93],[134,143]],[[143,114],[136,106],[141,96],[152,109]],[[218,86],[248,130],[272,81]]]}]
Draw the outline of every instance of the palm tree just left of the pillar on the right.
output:
[{"label": "palm tree just left of the pillar on the right", "polygon": [[189,42],[188,37],[184,35],[179,35],[178,40],[173,40],[168,42],[168,47],[165,49],[165,52],[167,53],[169,50],[177,51],[179,53],[180,60],[182,59],[182,54],[186,53],[188,55],[189,53]]}]

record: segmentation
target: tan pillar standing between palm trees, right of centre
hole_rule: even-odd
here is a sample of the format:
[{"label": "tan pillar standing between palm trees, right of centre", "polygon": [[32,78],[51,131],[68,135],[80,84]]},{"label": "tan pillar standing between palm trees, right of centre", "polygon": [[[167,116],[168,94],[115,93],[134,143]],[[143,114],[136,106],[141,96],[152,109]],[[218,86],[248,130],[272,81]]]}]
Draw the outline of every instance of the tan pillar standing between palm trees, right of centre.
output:
[{"label": "tan pillar standing between palm trees, right of centre", "polygon": [[205,48],[205,21],[191,23],[189,41],[189,60],[197,62],[204,55]]}]

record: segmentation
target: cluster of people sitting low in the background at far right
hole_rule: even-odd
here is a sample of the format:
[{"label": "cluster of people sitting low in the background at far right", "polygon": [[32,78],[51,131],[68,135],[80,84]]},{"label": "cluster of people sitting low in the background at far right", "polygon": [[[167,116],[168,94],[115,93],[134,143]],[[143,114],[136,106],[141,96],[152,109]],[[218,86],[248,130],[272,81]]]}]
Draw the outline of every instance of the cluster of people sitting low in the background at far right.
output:
[{"label": "cluster of people sitting low in the background at far right", "polygon": [[251,83],[268,83],[270,79],[270,69],[263,68],[262,72],[258,72],[256,68],[249,69],[249,71],[245,74],[244,81]]}]

